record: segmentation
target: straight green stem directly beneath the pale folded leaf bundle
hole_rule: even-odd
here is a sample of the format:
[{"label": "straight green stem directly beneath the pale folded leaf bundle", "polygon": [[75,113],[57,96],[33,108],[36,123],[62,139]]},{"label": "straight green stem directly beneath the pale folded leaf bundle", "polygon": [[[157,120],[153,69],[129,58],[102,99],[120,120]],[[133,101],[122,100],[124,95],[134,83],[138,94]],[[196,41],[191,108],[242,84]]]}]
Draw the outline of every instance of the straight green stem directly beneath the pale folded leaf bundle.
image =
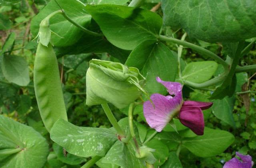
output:
[{"label": "straight green stem directly beneath the pale folded leaf bundle", "polygon": [[108,120],[110,121],[110,123],[112,124],[112,126],[116,129],[116,132],[122,136],[125,137],[124,131],[122,130],[122,128],[119,126],[118,122],[116,121],[116,118],[114,117],[113,113],[111,112],[109,106],[107,103],[101,104],[105,114],[108,117]]}]

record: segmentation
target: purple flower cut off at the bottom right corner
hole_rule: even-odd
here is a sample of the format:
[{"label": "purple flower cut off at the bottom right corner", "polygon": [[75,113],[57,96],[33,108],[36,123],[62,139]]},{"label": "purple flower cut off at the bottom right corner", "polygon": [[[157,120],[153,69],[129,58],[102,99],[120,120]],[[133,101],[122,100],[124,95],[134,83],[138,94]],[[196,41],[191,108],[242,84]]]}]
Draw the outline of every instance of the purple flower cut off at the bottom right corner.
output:
[{"label": "purple flower cut off at the bottom right corner", "polygon": [[239,156],[242,162],[238,158],[232,158],[224,164],[223,168],[252,168],[253,162],[250,155],[243,155],[236,152],[236,156]]}]

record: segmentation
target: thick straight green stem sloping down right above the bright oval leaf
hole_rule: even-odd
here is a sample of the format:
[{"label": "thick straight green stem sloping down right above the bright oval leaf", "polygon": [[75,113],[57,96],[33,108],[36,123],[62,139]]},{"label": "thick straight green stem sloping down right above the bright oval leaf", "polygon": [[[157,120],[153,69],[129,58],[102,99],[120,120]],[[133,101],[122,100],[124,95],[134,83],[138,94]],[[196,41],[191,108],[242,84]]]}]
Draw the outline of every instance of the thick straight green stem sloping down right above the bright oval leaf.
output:
[{"label": "thick straight green stem sloping down right above the bright oval leaf", "polygon": [[176,43],[176,44],[180,44],[182,46],[185,46],[185,47],[191,48],[193,50],[196,50],[197,52],[199,52],[201,54],[204,54],[205,56],[208,56],[208,57],[216,60],[216,62],[222,64],[225,69],[228,68],[228,64],[224,60],[222,60],[222,58],[220,58],[219,56],[217,56],[213,52],[210,52],[209,50],[206,50],[205,48],[202,48],[198,45],[192,44],[190,42],[185,42],[185,41],[182,41],[182,40],[178,40],[176,38],[166,37],[166,36],[163,36],[163,35],[160,35],[159,39],[163,40],[163,41],[168,41],[168,42],[173,42],[173,43]]}]

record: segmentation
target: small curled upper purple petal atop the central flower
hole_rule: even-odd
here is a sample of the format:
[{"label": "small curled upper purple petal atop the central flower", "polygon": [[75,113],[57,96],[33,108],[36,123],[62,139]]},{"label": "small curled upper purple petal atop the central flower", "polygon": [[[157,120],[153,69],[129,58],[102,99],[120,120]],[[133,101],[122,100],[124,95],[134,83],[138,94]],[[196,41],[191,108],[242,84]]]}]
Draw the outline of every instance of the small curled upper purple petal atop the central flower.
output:
[{"label": "small curled upper purple petal atop the central flower", "polygon": [[178,94],[182,90],[182,85],[179,82],[166,82],[162,81],[159,77],[156,77],[156,81],[164,85],[169,94]]}]

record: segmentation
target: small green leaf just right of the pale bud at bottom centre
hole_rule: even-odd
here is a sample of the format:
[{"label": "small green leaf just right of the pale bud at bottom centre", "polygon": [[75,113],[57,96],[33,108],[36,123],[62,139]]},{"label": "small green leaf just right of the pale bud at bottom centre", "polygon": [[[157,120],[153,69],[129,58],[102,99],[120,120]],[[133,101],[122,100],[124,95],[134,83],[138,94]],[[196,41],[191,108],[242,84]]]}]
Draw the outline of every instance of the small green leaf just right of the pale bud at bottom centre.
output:
[{"label": "small green leaf just right of the pale bud at bottom centre", "polygon": [[145,145],[149,148],[155,149],[155,152],[152,152],[152,154],[155,156],[157,160],[154,163],[155,167],[161,166],[168,159],[169,149],[160,140],[152,139],[149,142],[147,142]]}]

